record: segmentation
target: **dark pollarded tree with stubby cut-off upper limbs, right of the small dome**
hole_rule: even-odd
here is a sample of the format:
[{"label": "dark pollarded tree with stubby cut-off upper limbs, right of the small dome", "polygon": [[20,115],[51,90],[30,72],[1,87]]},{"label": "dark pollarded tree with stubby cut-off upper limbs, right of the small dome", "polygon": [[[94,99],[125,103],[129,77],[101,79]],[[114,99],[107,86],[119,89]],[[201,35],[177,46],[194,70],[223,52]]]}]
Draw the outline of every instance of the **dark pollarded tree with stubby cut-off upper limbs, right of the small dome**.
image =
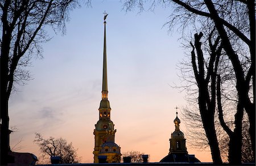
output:
[{"label": "dark pollarded tree with stubby cut-off upper limbs, right of the small dome", "polygon": [[[198,104],[201,120],[208,138],[210,150],[212,152],[214,163],[221,163],[221,155],[218,147],[216,127],[214,123],[214,113],[216,109],[216,76],[218,62],[222,50],[222,42],[219,44],[220,37],[212,44],[212,37],[209,36],[210,58],[209,63],[205,64],[204,53],[201,49],[200,39],[203,33],[195,34],[195,44],[192,44],[191,61],[193,73],[195,75],[198,87]],[[195,53],[196,49],[196,53]],[[207,66],[206,66],[207,65]],[[208,69],[205,71],[205,69]],[[210,87],[210,88],[209,88]]]}]

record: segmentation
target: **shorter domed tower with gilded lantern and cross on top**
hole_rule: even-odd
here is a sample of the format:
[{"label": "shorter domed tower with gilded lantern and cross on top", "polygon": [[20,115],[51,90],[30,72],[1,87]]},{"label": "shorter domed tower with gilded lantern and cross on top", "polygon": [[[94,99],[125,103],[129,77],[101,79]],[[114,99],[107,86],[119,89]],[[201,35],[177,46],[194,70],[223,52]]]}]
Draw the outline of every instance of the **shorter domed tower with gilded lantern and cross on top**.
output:
[{"label": "shorter domed tower with gilded lantern and cross on top", "polygon": [[163,162],[188,162],[188,163],[198,163],[200,162],[195,155],[189,155],[186,147],[186,139],[182,131],[180,131],[180,119],[177,117],[177,107],[176,118],[174,119],[175,131],[171,134],[170,150],[169,154],[164,157],[160,163]]}]

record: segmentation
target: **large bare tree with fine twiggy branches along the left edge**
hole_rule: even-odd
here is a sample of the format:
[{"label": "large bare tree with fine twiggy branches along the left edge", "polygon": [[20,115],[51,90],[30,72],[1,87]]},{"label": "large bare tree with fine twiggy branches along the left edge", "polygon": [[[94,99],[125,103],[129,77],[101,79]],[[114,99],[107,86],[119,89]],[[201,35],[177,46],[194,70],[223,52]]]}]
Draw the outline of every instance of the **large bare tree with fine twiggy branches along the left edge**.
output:
[{"label": "large bare tree with fine twiggy branches along the left edge", "polygon": [[78,5],[78,0],[0,1],[0,165],[7,165],[7,153],[10,151],[8,101],[14,83],[23,84],[30,79],[24,67],[30,65],[33,56],[41,56],[40,44],[50,39],[46,27],[64,32],[69,11]]}]

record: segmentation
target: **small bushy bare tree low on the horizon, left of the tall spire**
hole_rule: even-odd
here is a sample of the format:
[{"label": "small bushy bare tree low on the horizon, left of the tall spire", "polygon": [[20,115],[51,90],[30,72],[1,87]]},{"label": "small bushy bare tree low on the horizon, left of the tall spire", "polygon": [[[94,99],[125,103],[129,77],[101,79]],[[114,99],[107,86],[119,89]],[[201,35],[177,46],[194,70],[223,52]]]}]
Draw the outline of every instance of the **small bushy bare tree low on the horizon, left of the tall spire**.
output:
[{"label": "small bushy bare tree low on the horizon, left of the tall spire", "polygon": [[67,143],[67,140],[63,138],[55,139],[50,137],[44,139],[39,133],[35,133],[34,142],[40,147],[42,160],[48,160],[48,163],[50,163],[52,156],[59,156],[61,159],[60,164],[79,163],[77,149],[73,147],[72,142]]}]

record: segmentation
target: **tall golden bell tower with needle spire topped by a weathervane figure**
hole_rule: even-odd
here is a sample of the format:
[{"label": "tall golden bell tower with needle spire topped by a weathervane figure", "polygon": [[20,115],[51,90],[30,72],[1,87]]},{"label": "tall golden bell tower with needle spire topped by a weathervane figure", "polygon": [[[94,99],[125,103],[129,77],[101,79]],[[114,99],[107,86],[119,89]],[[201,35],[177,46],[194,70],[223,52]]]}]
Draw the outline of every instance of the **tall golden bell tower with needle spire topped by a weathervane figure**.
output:
[{"label": "tall golden bell tower with needle spire topped by a weathervane figure", "polygon": [[94,163],[100,163],[105,158],[106,163],[119,163],[121,160],[120,147],[115,143],[114,124],[110,120],[110,104],[108,100],[108,75],[106,59],[106,16],[104,17],[104,52],[103,52],[103,78],[102,96],[99,110],[99,120],[95,125],[94,134]]}]

